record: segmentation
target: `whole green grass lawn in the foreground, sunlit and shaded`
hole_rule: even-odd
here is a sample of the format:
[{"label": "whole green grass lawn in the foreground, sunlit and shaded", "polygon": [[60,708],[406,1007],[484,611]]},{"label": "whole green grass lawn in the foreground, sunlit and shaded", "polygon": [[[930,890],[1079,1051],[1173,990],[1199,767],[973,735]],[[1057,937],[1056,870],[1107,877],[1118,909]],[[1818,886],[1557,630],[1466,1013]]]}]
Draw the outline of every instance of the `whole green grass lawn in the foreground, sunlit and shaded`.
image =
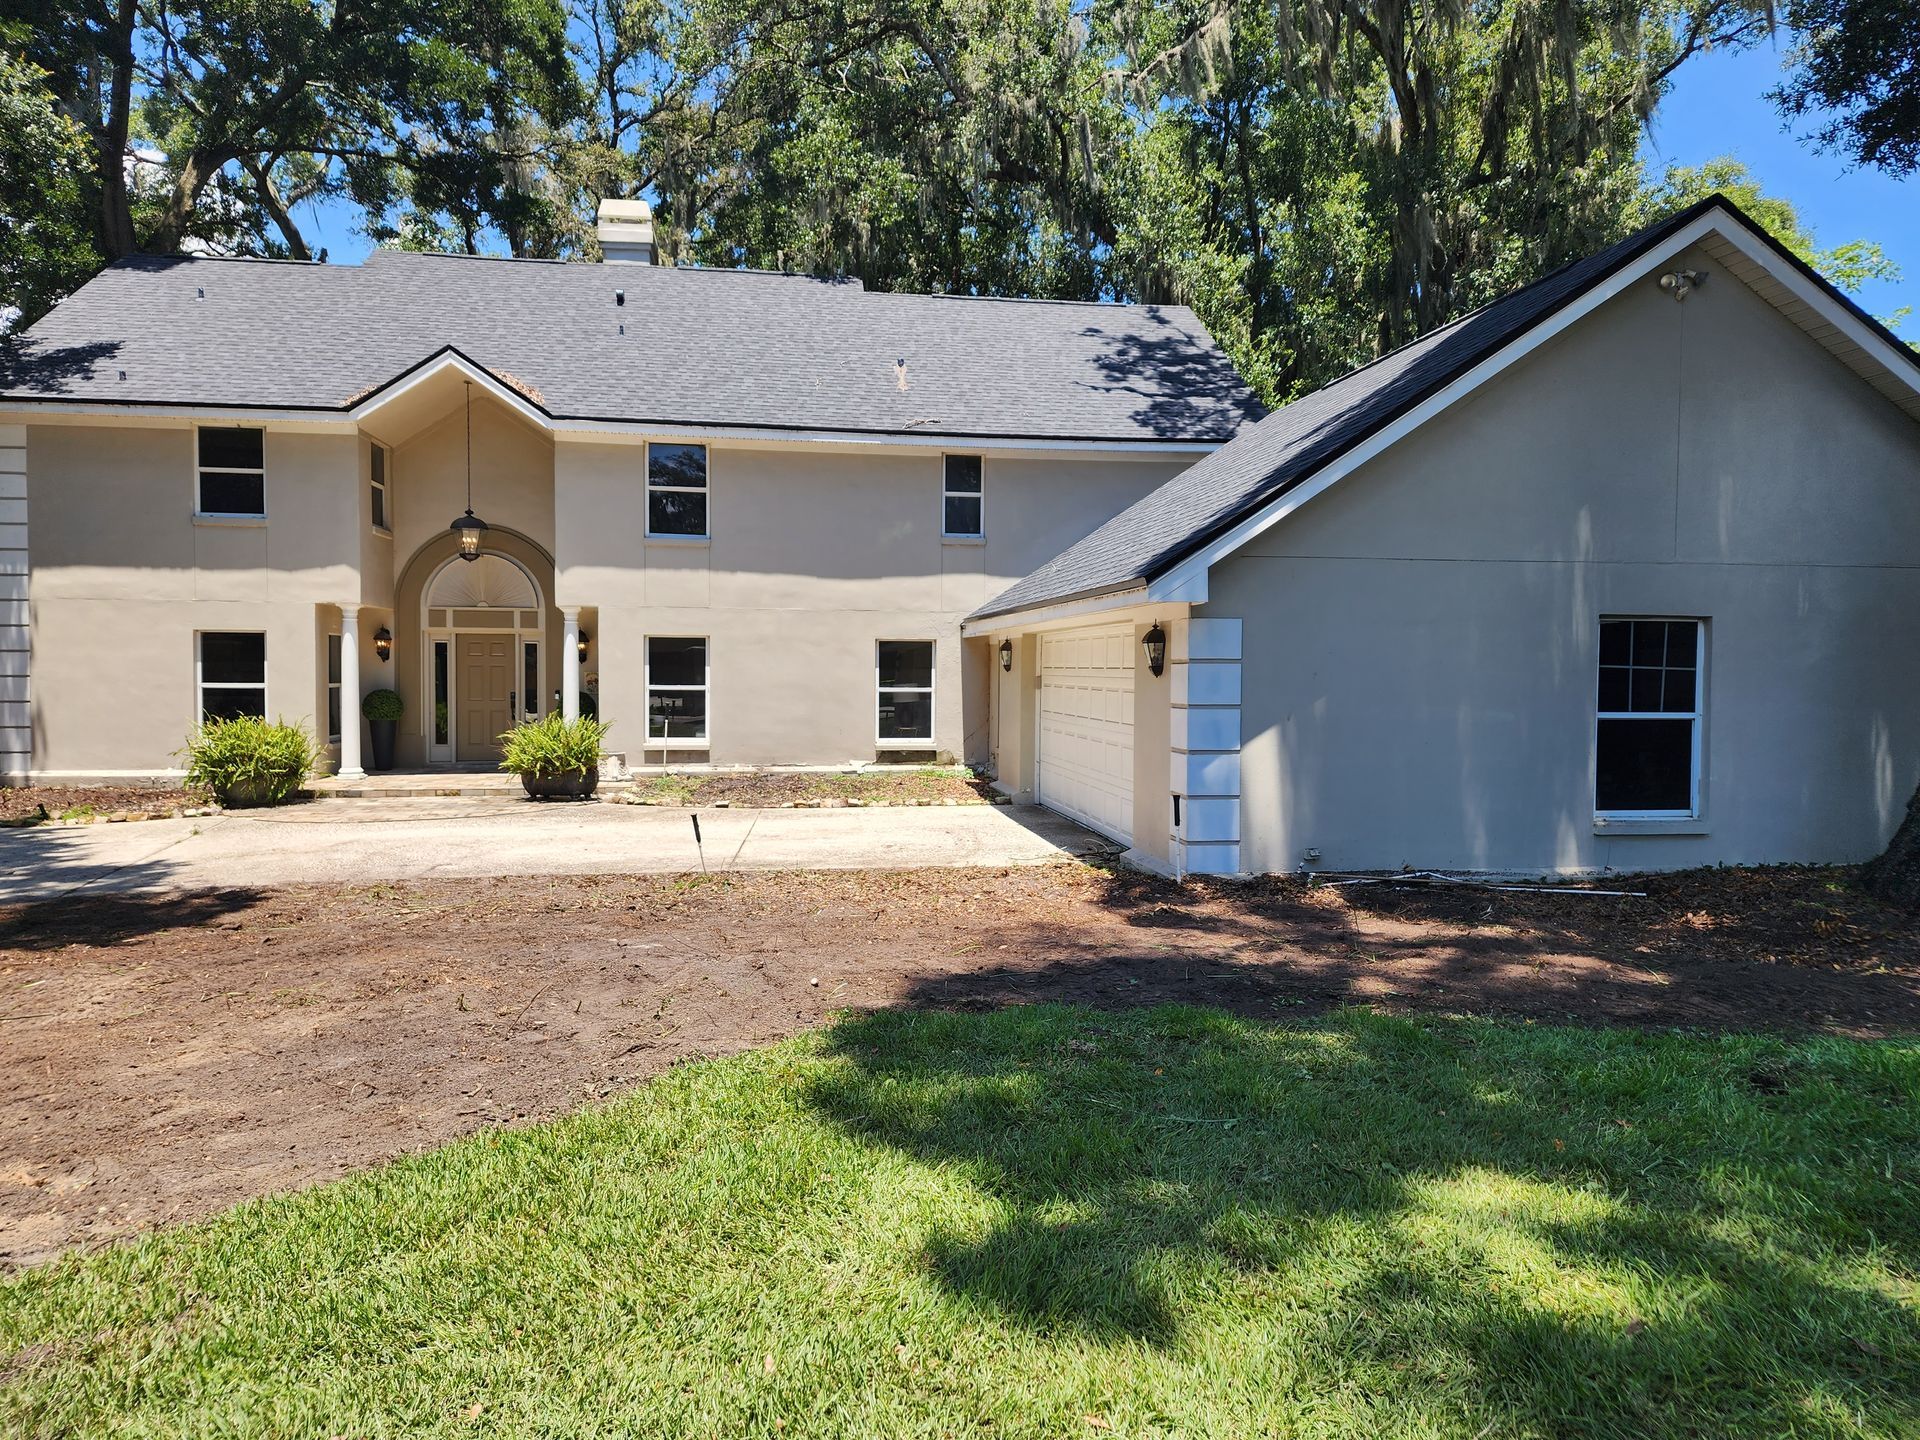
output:
[{"label": "whole green grass lawn in the foreground, sunlit and shaded", "polygon": [[0,1432],[1916,1436],[1920,1044],[881,1014],[0,1288]]}]

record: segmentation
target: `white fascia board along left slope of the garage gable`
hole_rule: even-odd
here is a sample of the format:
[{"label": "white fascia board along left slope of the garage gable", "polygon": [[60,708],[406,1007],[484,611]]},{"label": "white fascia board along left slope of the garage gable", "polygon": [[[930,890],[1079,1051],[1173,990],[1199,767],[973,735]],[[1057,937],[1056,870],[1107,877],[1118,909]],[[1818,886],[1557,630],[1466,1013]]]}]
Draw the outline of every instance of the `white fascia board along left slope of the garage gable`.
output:
[{"label": "white fascia board along left slope of the garage gable", "polygon": [[[1692,246],[1697,246],[1709,234],[1724,234],[1728,238],[1736,238],[1741,232],[1743,232],[1743,227],[1740,227],[1738,223],[1732,223],[1730,217],[1724,211],[1709,211],[1707,215],[1701,215],[1697,221],[1693,221],[1686,228],[1676,230],[1667,240],[1663,240],[1659,246],[1655,246],[1653,250],[1649,250],[1647,253],[1644,253],[1640,259],[1636,259],[1632,265],[1622,267],[1615,275],[1611,275],[1605,280],[1601,280],[1599,284],[1596,284],[1592,290],[1588,290],[1578,300],[1572,300],[1567,305],[1563,305],[1559,311],[1555,311],[1553,315],[1549,315],[1548,319],[1544,319],[1540,324],[1536,324],[1534,328],[1530,328],[1526,334],[1511,340],[1503,349],[1498,349],[1496,353],[1488,355],[1484,361],[1480,361],[1478,365],[1475,365],[1471,371],[1467,371],[1465,374],[1461,374],[1457,380],[1453,380],[1444,390],[1436,392],[1434,396],[1430,396],[1423,403],[1415,405],[1411,411],[1407,411],[1405,415],[1402,415],[1398,420],[1394,420],[1392,424],[1388,424],[1384,430],[1379,430],[1373,436],[1369,436],[1367,440],[1363,440],[1361,444],[1354,445],[1354,449],[1346,451],[1336,461],[1321,467],[1308,480],[1302,480],[1298,486],[1294,486],[1292,490],[1288,490],[1284,495],[1275,497],[1263,509],[1260,509],[1254,515],[1250,515],[1244,520],[1240,520],[1240,524],[1236,524],[1233,530],[1229,530],[1227,534],[1223,534],[1217,540],[1213,540],[1212,543],[1208,543],[1204,549],[1198,549],[1192,555],[1188,555],[1185,561],[1181,561],[1171,570],[1167,570],[1165,574],[1162,574],[1160,578],[1156,578],[1154,582],[1148,584],[1148,588],[1146,588],[1148,599],[1167,601],[1167,603],[1181,601],[1181,603],[1187,603],[1187,605],[1204,605],[1206,603],[1206,595],[1208,595],[1208,570],[1212,570],[1213,564],[1217,564],[1219,561],[1227,559],[1236,549],[1240,549],[1240,545],[1244,545],[1250,540],[1254,540],[1256,536],[1261,536],[1263,532],[1271,530],[1275,524],[1279,524],[1288,515],[1292,515],[1294,511],[1298,511],[1309,499],[1313,499],[1315,495],[1331,490],[1334,484],[1338,484],[1340,480],[1344,480],[1346,476],[1350,476],[1354,470],[1357,470],[1359,467],[1363,467],[1367,461],[1375,459],[1382,451],[1398,445],[1409,434],[1413,434],[1423,424],[1427,424],[1427,420],[1430,420],[1436,415],[1440,415],[1440,411],[1444,411],[1450,405],[1465,399],[1475,390],[1478,390],[1488,380],[1492,380],[1501,371],[1505,371],[1509,365],[1515,365],[1517,361],[1521,361],[1526,355],[1534,353],[1536,349],[1540,349],[1544,344],[1548,344],[1549,340],[1553,340],[1555,336],[1559,336],[1569,326],[1578,324],[1582,319],[1586,319],[1596,309],[1599,309],[1601,305],[1605,305],[1617,294],[1620,294],[1622,290],[1626,290],[1632,284],[1638,284],[1651,271],[1655,271],[1661,265],[1665,265],[1667,261],[1674,259],[1674,255],[1680,255],[1686,250],[1690,250]],[[1745,250],[1745,246],[1743,246],[1743,250]],[[1772,269],[1774,273],[1782,273],[1782,271],[1789,269],[1789,267],[1782,265],[1780,257],[1774,255],[1766,246],[1759,246],[1757,250],[1764,252],[1764,255],[1763,253],[1755,253],[1753,259],[1759,261],[1759,263],[1768,263],[1770,261],[1768,269]],[[1795,275],[1797,275],[1797,271],[1795,271]],[[1786,275],[1782,275],[1782,278],[1786,278]],[[1799,278],[1805,278],[1805,276],[1799,276]],[[1824,300],[1826,300],[1826,305],[1830,309],[1845,313],[1839,305],[1832,303],[1832,296],[1824,296]]]}]

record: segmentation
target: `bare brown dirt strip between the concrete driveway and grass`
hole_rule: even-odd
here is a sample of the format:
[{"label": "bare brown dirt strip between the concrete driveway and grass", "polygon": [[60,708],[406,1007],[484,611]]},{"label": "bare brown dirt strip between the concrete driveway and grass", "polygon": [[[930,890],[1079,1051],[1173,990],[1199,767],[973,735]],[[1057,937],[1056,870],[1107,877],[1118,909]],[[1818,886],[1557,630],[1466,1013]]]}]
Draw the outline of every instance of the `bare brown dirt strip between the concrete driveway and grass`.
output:
[{"label": "bare brown dirt strip between the concrete driveway and grass", "polygon": [[1079,866],[303,887],[0,910],[0,1261],[547,1116],[885,1004],[1336,1004],[1920,1031],[1841,872],[1644,900]]}]

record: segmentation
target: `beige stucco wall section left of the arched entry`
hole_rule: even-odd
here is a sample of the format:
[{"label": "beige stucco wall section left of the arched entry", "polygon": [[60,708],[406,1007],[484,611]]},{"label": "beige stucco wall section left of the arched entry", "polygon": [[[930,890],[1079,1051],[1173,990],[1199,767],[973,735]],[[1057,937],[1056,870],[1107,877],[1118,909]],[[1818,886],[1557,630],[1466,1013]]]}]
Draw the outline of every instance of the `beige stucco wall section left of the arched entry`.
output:
[{"label": "beige stucco wall section left of the arched entry", "polygon": [[359,588],[355,436],[269,430],[259,524],[194,518],[186,424],[27,430],[33,770],[175,770],[205,630],[265,632],[267,712],[324,730],[315,607]]}]

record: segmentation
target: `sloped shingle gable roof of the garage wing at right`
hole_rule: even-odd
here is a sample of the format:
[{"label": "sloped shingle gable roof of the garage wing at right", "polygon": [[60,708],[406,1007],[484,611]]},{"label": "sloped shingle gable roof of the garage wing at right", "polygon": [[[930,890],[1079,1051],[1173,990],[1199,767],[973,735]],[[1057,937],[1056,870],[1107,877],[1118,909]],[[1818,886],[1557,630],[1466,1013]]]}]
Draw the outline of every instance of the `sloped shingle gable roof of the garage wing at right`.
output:
[{"label": "sloped shingle gable roof of the garage wing at right", "polygon": [[[1763,259],[1770,259],[1772,265],[1763,265],[1747,250],[1730,244],[1724,232],[1715,232],[1713,238],[1720,246],[1709,246],[1709,253],[1715,253],[1749,284],[1761,276],[1772,278],[1774,288],[1782,294],[1768,298],[1782,309],[1795,303],[1807,311],[1807,315],[1788,313],[1824,344],[1830,344],[1857,371],[1866,374],[1868,361],[1878,367],[1880,361],[1872,361],[1860,346],[1845,342],[1845,336],[1832,324],[1826,326],[1830,334],[1816,330],[1809,321],[1818,317],[1803,300],[1788,294],[1778,276],[1799,276],[1801,292],[1807,290],[1805,282],[1812,282],[1818,288],[1816,298],[1836,301],[1857,326],[1864,326],[1866,338],[1876,338],[1905,357],[1908,369],[1905,382],[1895,378],[1893,384],[1882,388],[1914,419],[1920,419],[1920,357],[1914,357],[1885,326],[1759,228],[1738,205],[1724,196],[1709,196],[1596,255],[1574,261],[1309,396],[1302,396],[1290,405],[1283,405],[1265,420],[1242,430],[1235,442],[1196,461],[1025,580],[991,599],[968,620],[987,620],[1016,611],[1131,591],[1162,580],[1175,566],[1235,532],[1236,526],[1250,522],[1290,492],[1388,432],[1396,420],[1409,417],[1423,403],[1475,372],[1476,367],[1492,361],[1500,351],[1596,292],[1609,278],[1630,271],[1634,261],[1686,236],[1695,223],[1716,213],[1724,213],[1753,240],[1763,242]],[[1761,286],[1755,284],[1755,288]],[[1763,294],[1766,294],[1764,288]],[[1845,342],[1857,353],[1845,353],[1836,340]],[[1878,384],[1880,372],[1876,371],[1872,378]]]}]

